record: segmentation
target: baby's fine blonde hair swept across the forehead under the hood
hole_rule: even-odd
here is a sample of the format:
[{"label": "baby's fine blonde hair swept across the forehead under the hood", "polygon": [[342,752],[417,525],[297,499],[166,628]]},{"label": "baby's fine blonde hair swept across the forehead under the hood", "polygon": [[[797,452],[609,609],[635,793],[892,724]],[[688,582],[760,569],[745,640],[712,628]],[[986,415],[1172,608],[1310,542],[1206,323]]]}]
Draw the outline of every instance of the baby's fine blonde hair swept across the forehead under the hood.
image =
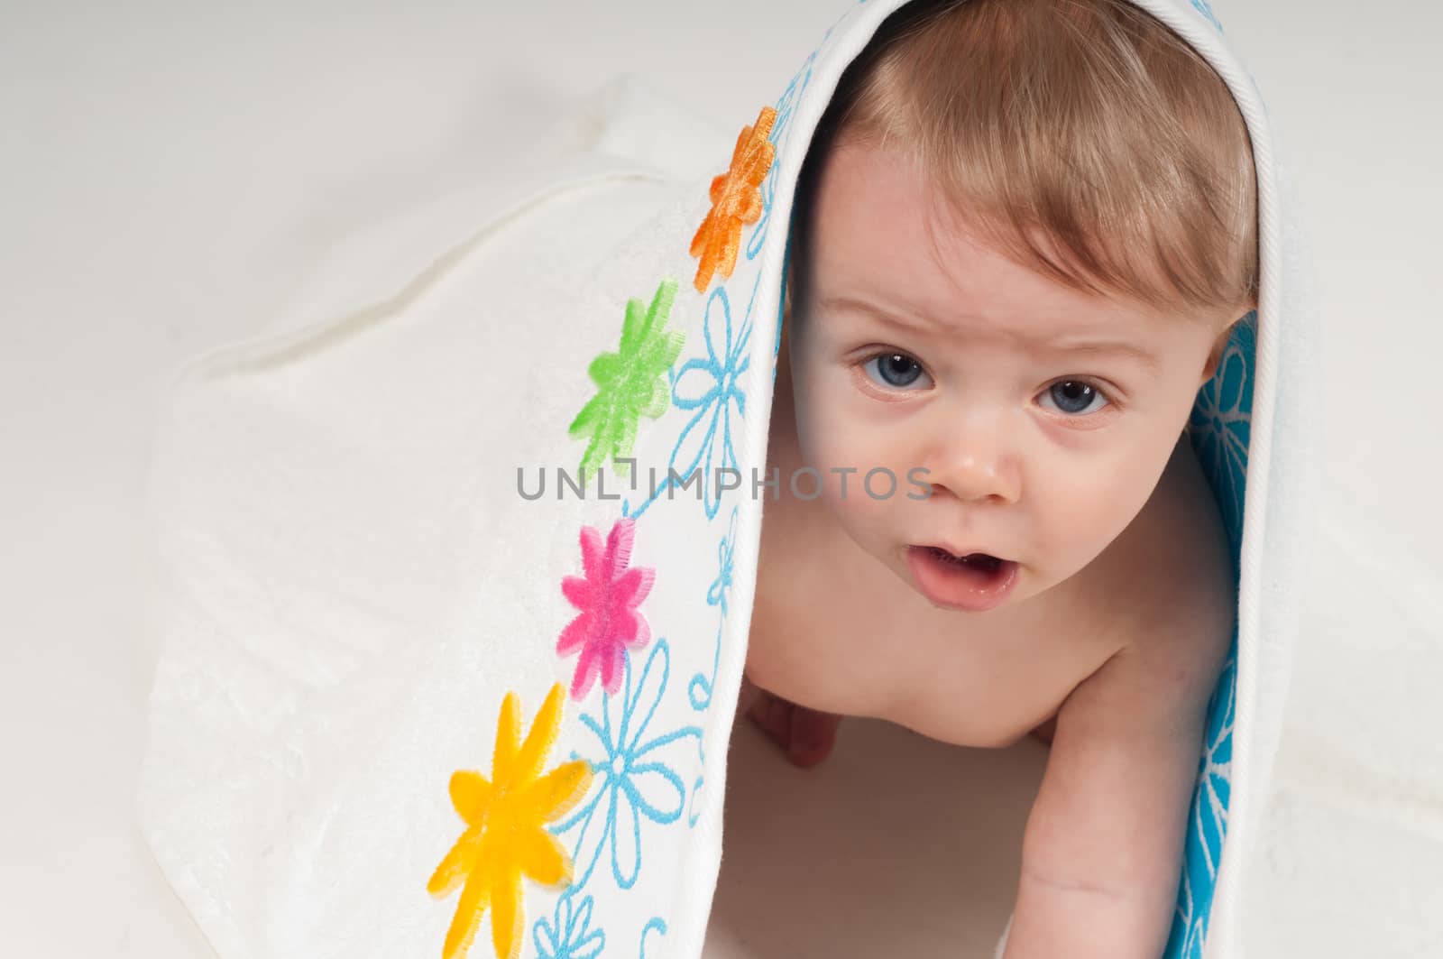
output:
[{"label": "baby's fine blonde hair swept across the forehead under the hood", "polygon": [[801,256],[823,157],[848,140],[911,155],[1001,253],[1074,289],[1186,313],[1257,303],[1247,126],[1212,66],[1127,0],[893,13],[814,136]]}]

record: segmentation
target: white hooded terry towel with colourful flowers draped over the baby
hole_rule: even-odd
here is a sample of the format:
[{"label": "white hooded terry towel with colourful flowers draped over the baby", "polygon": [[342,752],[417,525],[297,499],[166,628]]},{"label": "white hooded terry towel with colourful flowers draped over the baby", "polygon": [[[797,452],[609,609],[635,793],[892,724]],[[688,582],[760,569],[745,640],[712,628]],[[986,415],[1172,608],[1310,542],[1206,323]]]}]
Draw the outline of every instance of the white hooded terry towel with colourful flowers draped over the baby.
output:
[{"label": "white hooded terry towel with colourful flowers draped over the baby", "polygon": [[[840,72],[898,6],[850,4],[782,85],[760,215],[734,272],[701,293],[690,247],[729,157],[693,168],[685,143],[706,134],[623,94],[583,124],[582,153],[524,188],[418,212],[391,256],[359,244],[271,332],[182,371],[152,472],[163,653],[139,802],[222,959],[440,952],[468,893],[436,898],[429,880],[481,822],[482,781],[531,781],[508,748],[494,754],[498,724],[524,738],[548,721],[556,741],[528,741],[528,758],[537,774],[560,770],[553,784],[571,776],[574,794],[548,806],[564,812],[545,819],[571,881],[522,880],[502,939],[547,959],[700,955],[795,178]],[[1166,953],[1237,959],[1307,553],[1312,312],[1251,78],[1202,0],[1140,6],[1218,69],[1257,157],[1260,305],[1192,420],[1237,550],[1238,631]],[[319,305],[332,312],[307,313]],[[619,432],[600,435],[635,429],[620,455],[662,481],[668,465],[698,467],[698,490],[651,497],[646,475],[633,490],[608,462],[613,498],[595,482],[557,498],[556,468],[574,472],[590,439],[569,426],[602,409],[618,361],[597,358],[618,352],[652,365],[631,406],[597,417]],[[543,498],[519,495],[518,467],[528,490],[545,468]],[[742,490],[716,467],[737,469]],[[505,796],[508,816],[547,804],[519,786]],[[537,842],[528,862],[547,872]],[[496,864],[515,859],[486,849],[502,878],[473,956],[492,953],[512,888]]]}]

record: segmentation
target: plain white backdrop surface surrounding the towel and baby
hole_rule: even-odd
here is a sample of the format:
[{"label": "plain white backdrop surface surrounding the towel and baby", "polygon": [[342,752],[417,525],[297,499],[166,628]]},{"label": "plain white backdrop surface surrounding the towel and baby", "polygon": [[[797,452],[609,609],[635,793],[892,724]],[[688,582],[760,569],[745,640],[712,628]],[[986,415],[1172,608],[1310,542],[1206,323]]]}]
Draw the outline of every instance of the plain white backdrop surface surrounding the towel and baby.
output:
[{"label": "plain white backdrop surface surrounding the towel and baby", "polygon": [[[140,491],[179,360],[271,322],[328,247],[472,185],[616,72],[719,129],[747,121],[838,9],[0,10],[0,950],[206,955],[131,815],[154,660]],[[1310,201],[1333,384],[1319,523],[1339,552],[1309,594],[1248,942],[1264,958],[1437,955],[1443,13],[1214,9]],[[733,835],[745,859],[747,829]],[[747,901],[732,862],[719,921]],[[771,943],[755,955],[808,955],[782,929],[749,933]]]}]

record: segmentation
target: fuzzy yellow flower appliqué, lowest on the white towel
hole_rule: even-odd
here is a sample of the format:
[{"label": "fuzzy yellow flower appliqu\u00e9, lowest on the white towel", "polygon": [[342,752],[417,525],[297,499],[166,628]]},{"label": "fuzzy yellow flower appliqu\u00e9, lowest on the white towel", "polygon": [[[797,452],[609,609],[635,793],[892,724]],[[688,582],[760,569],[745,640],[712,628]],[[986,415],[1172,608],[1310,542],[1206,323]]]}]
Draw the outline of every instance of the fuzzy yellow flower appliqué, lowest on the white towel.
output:
[{"label": "fuzzy yellow flower appliqu\u00e9, lowest on the white towel", "polygon": [[561,728],[563,696],[563,686],[554,685],[527,741],[519,742],[521,706],[517,695],[508,692],[496,721],[491,780],[469,770],[452,776],[452,806],[466,820],[466,832],[426,884],[433,895],[449,895],[465,882],[456,917],[446,932],[443,959],[466,955],[488,904],[496,959],[517,959],[525,924],[521,874],[543,885],[571,882],[571,858],[545,830],[545,823],[564,816],[586,796],[592,770],[577,760],[538,778]]}]

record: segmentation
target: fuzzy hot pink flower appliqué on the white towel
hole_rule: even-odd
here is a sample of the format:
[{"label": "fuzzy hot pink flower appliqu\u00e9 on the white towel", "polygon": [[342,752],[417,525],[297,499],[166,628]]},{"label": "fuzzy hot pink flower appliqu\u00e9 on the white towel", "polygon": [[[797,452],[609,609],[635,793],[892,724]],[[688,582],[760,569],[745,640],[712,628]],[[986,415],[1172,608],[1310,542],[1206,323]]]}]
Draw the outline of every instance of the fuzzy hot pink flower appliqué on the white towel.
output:
[{"label": "fuzzy hot pink flower appliqu\u00e9 on the white towel", "polygon": [[616,520],[603,546],[600,530],[582,527],[584,576],[561,581],[561,592],[582,614],[567,624],[556,644],[560,656],[582,650],[571,677],[571,699],[584,696],[597,673],[602,687],[616,695],[622,687],[626,647],[639,648],[651,640],[651,625],[636,607],[651,592],[657,570],[628,569],[635,534],[635,520]]}]

